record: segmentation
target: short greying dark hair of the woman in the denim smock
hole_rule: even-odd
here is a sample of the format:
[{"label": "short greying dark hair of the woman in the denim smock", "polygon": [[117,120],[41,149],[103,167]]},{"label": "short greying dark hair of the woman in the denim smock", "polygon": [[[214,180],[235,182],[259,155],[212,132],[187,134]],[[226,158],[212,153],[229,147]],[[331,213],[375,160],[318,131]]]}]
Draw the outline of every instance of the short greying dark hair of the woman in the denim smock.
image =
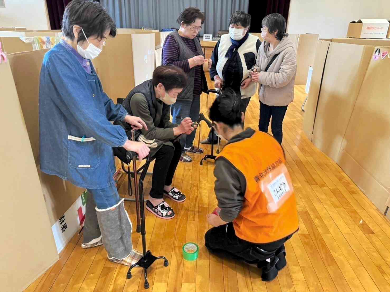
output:
[{"label": "short greying dark hair of the woman in the denim smock", "polygon": [[[99,2],[92,0],[73,0],[69,2],[62,18],[62,34],[73,40],[73,26],[79,25],[83,28],[86,37],[96,36],[101,40],[106,30],[110,30],[110,36],[117,35],[114,20]],[[85,40],[80,30],[77,42]]]}]

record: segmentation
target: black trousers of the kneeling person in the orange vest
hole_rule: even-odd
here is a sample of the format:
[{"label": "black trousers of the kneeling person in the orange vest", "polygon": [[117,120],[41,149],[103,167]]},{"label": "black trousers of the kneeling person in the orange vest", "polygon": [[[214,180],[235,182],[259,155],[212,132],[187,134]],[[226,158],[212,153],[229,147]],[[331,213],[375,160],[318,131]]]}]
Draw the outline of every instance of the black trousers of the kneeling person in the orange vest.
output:
[{"label": "black trousers of the kneeling person in the orange vest", "polygon": [[252,246],[258,246],[262,250],[271,252],[277,250],[282,246],[288,239],[293,236],[292,234],[282,238],[278,241],[265,244],[254,244],[248,241],[245,241],[236,236],[234,231],[233,223],[227,223],[225,225],[220,225],[218,227],[213,227],[206,232],[204,236],[205,245],[211,253],[217,255],[232,257],[237,260],[246,260],[253,262],[254,258],[250,255],[248,248]]}]

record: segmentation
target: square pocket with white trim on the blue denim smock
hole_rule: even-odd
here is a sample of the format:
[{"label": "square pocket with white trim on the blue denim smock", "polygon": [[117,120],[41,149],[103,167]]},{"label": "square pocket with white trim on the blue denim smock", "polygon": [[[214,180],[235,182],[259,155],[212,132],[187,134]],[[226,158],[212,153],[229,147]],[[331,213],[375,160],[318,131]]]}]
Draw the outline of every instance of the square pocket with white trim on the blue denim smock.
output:
[{"label": "square pocket with white trim on the blue denim smock", "polygon": [[100,164],[100,146],[95,138],[68,135],[68,163],[77,169],[94,169]]}]

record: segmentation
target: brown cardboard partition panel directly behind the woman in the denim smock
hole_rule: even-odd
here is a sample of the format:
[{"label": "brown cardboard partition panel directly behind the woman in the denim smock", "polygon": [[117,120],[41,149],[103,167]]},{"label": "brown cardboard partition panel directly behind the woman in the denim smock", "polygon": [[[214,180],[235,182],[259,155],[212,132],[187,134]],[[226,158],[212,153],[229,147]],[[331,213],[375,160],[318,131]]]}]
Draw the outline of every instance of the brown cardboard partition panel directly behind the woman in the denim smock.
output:
[{"label": "brown cardboard partition panel directly behind the woman in the denim smock", "polygon": [[[41,181],[41,192],[46,201],[46,213],[49,215],[50,226],[52,226],[80,197],[84,189],[39,170],[39,74],[43,56],[47,51],[48,49],[43,49],[15,53],[8,57],[35,160],[35,169],[38,169]],[[19,167],[23,168],[23,164]]]}]

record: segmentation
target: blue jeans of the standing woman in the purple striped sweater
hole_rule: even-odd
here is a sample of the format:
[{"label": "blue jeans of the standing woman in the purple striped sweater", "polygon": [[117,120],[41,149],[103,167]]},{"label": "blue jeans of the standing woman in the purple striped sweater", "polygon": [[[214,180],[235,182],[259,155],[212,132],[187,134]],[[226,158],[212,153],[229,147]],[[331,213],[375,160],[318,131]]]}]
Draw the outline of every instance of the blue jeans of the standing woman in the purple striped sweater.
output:
[{"label": "blue jeans of the standing woman in the purple striped sweater", "polygon": [[[200,95],[194,95],[193,100],[177,100],[171,106],[172,123],[180,124],[185,118],[191,118],[194,122],[199,119]],[[190,135],[183,135],[179,141],[182,151],[184,147],[191,147],[195,139],[196,129]]]}]

